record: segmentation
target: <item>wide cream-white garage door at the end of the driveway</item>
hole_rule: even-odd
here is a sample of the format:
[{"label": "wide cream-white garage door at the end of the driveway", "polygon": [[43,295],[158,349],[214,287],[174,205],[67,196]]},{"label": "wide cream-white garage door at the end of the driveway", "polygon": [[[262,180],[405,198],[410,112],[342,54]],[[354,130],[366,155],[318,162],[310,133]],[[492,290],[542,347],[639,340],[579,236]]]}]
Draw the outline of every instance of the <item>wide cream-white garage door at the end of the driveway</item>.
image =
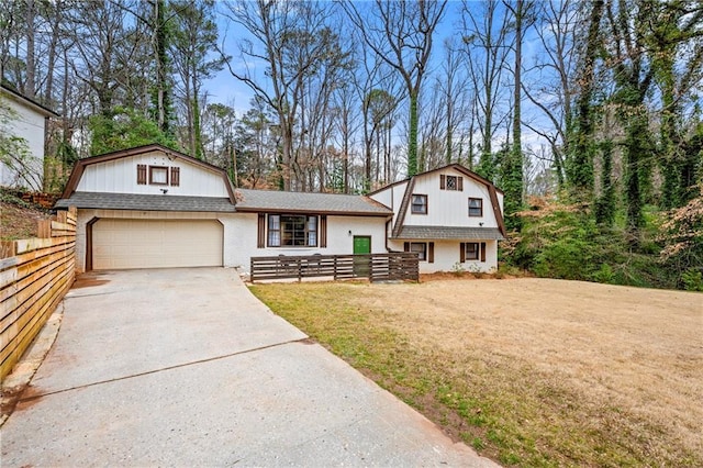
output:
[{"label": "wide cream-white garage door at the end of the driveway", "polygon": [[214,220],[98,220],[92,268],[222,266],[223,227]]}]

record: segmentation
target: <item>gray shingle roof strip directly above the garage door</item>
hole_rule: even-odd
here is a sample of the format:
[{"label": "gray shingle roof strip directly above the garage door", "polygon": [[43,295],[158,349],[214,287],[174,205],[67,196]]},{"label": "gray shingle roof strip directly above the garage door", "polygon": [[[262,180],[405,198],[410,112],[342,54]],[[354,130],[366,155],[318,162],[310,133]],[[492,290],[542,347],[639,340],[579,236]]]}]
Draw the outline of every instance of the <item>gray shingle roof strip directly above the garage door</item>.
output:
[{"label": "gray shingle roof strip directly above the garage door", "polygon": [[228,198],[103,192],[75,192],[68,199],[58,200],[55,205],[68,207],[138,211],[235,211]]}]

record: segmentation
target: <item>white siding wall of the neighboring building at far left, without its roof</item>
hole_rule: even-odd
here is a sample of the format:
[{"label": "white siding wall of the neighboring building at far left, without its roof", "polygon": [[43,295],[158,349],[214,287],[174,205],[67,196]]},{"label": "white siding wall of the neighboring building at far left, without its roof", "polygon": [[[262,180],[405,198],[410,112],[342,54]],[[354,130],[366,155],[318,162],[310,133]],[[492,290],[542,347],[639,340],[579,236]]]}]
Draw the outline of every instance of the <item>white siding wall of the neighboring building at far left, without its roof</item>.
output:
[{"label": "white siding wall of the neighboring building at far left, without its roof", "polygon": [[45,116],[5,93],[0,93],[0,105],[11,109],[12,115],[7,124],[10,134],[24,138],[30,151],[26,165],[29,168],[27,176],[22,178],[15,170],[0,163],[0,185],[42,190],[44,181]]}]

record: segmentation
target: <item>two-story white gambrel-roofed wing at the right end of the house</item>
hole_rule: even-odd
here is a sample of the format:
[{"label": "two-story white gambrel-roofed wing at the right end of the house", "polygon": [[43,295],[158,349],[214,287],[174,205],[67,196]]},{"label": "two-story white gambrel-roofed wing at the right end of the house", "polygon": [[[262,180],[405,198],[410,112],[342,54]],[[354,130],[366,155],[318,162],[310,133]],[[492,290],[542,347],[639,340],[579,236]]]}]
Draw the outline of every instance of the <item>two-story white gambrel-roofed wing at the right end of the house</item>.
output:
[{"label": "two-story white gambrel-roofed wing at the right end of the house", "polygon": [[393,211],[389,248],[416,252],[420,272],[498,268],[503,192],[464,166],[419,174],[369,197]]}]

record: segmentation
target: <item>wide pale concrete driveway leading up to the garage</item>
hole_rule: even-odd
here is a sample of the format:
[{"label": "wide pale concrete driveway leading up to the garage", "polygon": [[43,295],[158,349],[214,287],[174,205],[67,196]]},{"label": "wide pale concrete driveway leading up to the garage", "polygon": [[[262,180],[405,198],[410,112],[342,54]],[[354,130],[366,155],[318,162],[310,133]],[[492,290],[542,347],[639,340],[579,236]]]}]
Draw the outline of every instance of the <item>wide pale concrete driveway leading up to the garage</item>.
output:
[{"label": "wide pale concrete driveway leading up to the garage", "polygon": [[2,426],[21,466],[494,466],[222,268],[83,275]]}]

